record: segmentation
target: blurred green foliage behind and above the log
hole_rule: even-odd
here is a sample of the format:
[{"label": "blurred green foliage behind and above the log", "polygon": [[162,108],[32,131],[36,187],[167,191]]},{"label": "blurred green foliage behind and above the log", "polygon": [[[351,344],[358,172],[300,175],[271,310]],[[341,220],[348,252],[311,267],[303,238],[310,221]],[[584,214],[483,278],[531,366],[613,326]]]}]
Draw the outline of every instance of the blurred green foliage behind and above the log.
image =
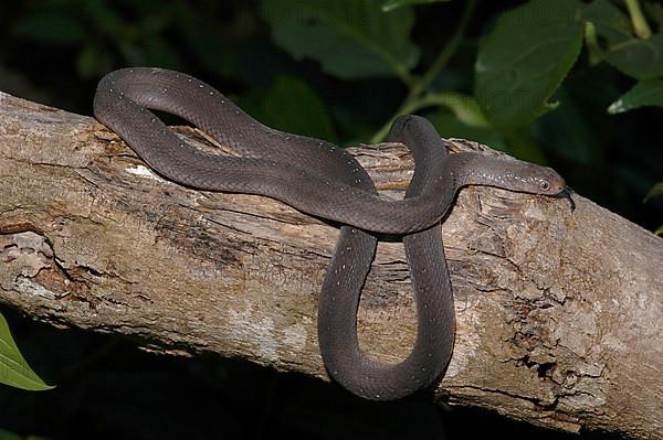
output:
[{"label": "blurred green foliage behind and above the log", "polygon": [[[607,63],[638,81],[630,92],[613,100],[610,114],[662,105],[663,33],[652,31],[648,24],[649,21],[656,28],[661,25],[663,8],[656,3],[644,3],[645,17],[639,1],[632,0],[624,4],[610,0],[589,3],[530,0],[512,10],[496,11],[495,24],[478,41],[474,60],[472,54],[465,55],[469,60],[465,65],[450,68],[459,50],[472,51],[474,45],[466,34],[475,15],[475,0],[460,2],[464,3],[464,11],[451,35],[439,35],[449,40],[436,53],[422,46],[412,33],[423,21],[418,11],[439,8],[443,13],[443,8],[451,3],[263,0],[259,17],[254,10],[207,3],[203,17],[194,7],[180,1],[44,0],[29,3],[12,32],[28,41],[75,47],[77,73],[83,77],[96,78],[127,64],[190,72],[189,61],[193,61],[199,68],[251,84],[252,90],[255,85],[280,87],[278,94],[262,96],[260,100],[265,107],[275,108],[277,99],[292,95],[318,103],[316,115],[320,120],[312,121],[314,127],[308,127],[301,120],[301,108],[305,105],[295,108],[295,101],[284,111],[259,111],[265,117],[264,122],[285,130],[305,128],[306,133],[332,140],[336,140],[334,133],[340,126],[346,132],[341,139],[369,137],[377,142],[385,139],[396,116],[419,111],[434,119],[442,133],[487,140],[524,159],[546,161],[545,144],[571,161],[596,160],[596,151],[588,150],[596,140],[582,133],[586,129],[581,120],[568,127],[577,131],[568,135],[588,142],[578,142],[571,151],[562,142],[546,142],[539,136],[546,131],[541,129],[546,124],[541,116],[560,104],[567,108],[573,106],[572,97],[556,98],[567,94],[565,79],[579,64],[583,42],[590,54],[590,67]],[[231,19],[224,21],[223,15]],[[288,62],[281,54],[265,53],[253,45],[262,20],[269,24],[272,43],[293,60],[313,61],[328,77],[346,84],[393,78],[407,88],[406,97],[399,105],[373,95],[381,90],[366,87],[364,99],[375,100],[373,106],[385,109],[392,106],[392,114],[382,116],[380,128],[370,135],[370,125],[377,118],[372,115],[375,108],[366,118],[361,115],[362,106],[348,108],[345,103],[329,103],[319,96],[318,87],[308,87],[304,96],[302,81],[293,78]],[[255,44],[264,46],[264,42],[257,41]],[[182,44],[185,50],[179,47]],[[257,54],[252,56],[248,51]],[[266,56],[259,60],[260,55]],[[470,81],[472,77],[474,82]],[[278,85],[274,85],[276,81]],[[240,101],[255,104],[251,94],[240,96]]]}]

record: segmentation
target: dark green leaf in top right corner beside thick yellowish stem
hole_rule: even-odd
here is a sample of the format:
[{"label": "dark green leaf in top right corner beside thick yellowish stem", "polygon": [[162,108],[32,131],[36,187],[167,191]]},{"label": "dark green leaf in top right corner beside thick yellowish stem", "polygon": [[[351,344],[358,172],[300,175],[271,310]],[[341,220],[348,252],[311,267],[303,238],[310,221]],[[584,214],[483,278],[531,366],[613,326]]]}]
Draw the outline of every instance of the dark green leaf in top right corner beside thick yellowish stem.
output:
[{"label": "dark green leaf in top right corner beside thick yellowish stem", "polygon": [[588,41],[603,60],[635,79],[663,76],[663,34],[648,40],[633,35],[629,17],[609,0],[596,0],[585,10],[596,28],[596,41]]}]

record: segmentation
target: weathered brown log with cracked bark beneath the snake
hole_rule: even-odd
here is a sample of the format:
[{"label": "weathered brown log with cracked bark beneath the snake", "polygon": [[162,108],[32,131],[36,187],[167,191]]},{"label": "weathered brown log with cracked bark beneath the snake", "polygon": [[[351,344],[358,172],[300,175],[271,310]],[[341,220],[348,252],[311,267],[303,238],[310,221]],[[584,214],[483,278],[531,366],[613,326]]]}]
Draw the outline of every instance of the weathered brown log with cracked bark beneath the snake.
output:
[{"label": "weathered brown log with cracked bark beneath the snake", "polygon": [[[350,151],[402,196],[403,146]],[[457,333],[436,396],[663,439],[663,239],[575,200],[571,213],[564,200],[461,192],[443,225]],[[0,93],[0,302],[38,320],[326,379],[316,303],[337,233],[266,197],[164,181],[94,119]],[[409,285],[402,245],[380,243],[358,313],[376,358],[410,351]]]}]

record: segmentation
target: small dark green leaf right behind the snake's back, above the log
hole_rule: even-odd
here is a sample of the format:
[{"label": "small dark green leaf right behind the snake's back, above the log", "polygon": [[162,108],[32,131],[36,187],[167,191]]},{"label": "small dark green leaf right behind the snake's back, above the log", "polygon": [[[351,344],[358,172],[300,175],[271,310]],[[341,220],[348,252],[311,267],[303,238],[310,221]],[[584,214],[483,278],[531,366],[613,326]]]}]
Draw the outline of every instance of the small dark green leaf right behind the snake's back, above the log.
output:
[{"label": "small dark green leaf right behind the snake's back, above the log", "polygon": [[324,101],[315,89],[296,77],[280,76],[266,93],[244,99],[242,107],[270,127],[336,142]]}]

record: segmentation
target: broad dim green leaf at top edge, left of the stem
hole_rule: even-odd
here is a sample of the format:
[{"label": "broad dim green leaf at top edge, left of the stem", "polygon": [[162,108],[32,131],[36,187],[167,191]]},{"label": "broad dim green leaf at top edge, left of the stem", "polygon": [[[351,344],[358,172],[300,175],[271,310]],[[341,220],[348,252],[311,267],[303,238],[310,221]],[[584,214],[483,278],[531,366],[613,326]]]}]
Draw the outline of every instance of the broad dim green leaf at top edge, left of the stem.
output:
[{"label": "broad dim green leaf at top edge, left of the stem", "polygon": [[406,79],[419,58],[409,40],[410,8],[385,14],[381,0],[298,2],[264,0],[263,15],[274,42],[296,60],[312,58],[339,78],[400,76]]}]

